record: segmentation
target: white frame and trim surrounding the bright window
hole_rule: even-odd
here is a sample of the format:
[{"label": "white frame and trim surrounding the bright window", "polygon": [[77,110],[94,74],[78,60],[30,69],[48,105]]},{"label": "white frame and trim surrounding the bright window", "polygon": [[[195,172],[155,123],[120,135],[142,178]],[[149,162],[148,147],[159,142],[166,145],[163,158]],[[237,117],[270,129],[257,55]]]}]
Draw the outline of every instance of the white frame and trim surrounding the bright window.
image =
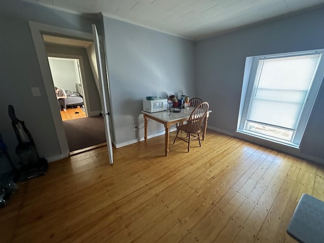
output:
[{"label": "white frame and trim surrounding the bright window", "polygon": [[[319,64],[317,70],[314,75],[313,82],[311,84],[311,88],[307,95],[307,98],[304,103],[304,107],[301,111],[301,116],[298,121],[297,128],[293,135],[292,141],[285,141],[282,139],[276,139],[270,136],[262,135],[259,133],[254,133],[251,131],[245,130],[246,119],[248,115],[248,109],[250,106],[251,95],[253,92],[253,86],[255,81],[255,76],[257,72],[257,67],[259,64],[260,59],[264,58],[279,58],[279,57],[288,57],[288,56],[301,56],[306,54],[314,54],[314,53],[321,53]],[[273,55],[262,55],[262,56],[254,56],[254,57],[247,57],[246,58],[246,66],[244,72],[244,80],[242,85],[242,94],[241,94],[241,101],[240,101],[240,108],[239,108],[239,115],[238,115],[238,123],[237,123],[237,130],[236,132],[242,133],[245,135],[249,135],[252,137],[257,137],[260,139],[268,140],[271,142],[285,144],[291,147],[299,148],[299,145],[302,141],[303,134],[305,132],[305,128],[314,106],[315,99],[317,97],[319,88],[322,83],[322,79],[324,76],[324,49],[320,50],[311,50],[311,51],[302,51],[302,52],[291,52],[291,53],[281,53],[281,54],[273,54]]]}]

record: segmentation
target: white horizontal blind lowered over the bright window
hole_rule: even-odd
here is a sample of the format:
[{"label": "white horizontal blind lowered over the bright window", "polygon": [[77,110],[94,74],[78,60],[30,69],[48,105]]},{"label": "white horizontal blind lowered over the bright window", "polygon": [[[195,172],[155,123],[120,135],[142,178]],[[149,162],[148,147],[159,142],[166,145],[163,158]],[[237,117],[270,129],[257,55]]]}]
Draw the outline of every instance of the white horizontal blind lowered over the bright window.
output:
[{"label": "white horizontal blind lowered over the bright window", "polygon": [[320,55],[260,59],[247,120],[295,130]]}]

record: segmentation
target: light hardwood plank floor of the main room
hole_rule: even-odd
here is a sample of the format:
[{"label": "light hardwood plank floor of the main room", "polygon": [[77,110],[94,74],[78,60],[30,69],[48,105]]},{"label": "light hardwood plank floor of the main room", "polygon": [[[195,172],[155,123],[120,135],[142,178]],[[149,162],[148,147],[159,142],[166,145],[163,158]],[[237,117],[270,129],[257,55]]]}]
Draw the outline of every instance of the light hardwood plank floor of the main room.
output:
[{"label": "light hardwood plank floor of the main room", "polygon": [[[171,133],[173,142],[175,133]],[[208,130],[199,148],[164,136],[49,164],[1,210],[1,242],[296,242],[302,193],[324,199],[324,168]]]}]

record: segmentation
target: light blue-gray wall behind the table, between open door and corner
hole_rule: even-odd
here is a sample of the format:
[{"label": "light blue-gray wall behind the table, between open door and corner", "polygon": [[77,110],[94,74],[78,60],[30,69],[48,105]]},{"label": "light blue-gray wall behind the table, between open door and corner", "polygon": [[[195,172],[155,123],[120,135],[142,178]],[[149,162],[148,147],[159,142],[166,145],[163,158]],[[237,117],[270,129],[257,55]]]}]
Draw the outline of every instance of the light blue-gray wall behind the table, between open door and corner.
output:
[{"label": "light blue-gray wall behind the table, between open door and corner", "polygon": [[[196,94],[194,44],[186,39],[104,17],[105,46],[116,144],[144,136],[146,96]],[[150,120],[148,135],[164,127]]]}]

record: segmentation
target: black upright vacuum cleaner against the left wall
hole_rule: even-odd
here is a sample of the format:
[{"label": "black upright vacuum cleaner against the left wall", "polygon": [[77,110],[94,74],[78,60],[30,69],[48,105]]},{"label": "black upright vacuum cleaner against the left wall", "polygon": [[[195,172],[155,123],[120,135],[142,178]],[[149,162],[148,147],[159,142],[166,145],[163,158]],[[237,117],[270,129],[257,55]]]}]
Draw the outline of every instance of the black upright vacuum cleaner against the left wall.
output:
[{"label": "black upright vacuum cleaner against the left wall", "polygon": [[21,121],[16,117],[12,105],[9,105],[8,111],[12,120],[11,124],[18,140],[16,154],[20,158],[20,169],[17,181],[25,181],[27,179],[45,175],[48,169],[47,160],[38,156],[30,132],[26,128],[24,121]]}]

